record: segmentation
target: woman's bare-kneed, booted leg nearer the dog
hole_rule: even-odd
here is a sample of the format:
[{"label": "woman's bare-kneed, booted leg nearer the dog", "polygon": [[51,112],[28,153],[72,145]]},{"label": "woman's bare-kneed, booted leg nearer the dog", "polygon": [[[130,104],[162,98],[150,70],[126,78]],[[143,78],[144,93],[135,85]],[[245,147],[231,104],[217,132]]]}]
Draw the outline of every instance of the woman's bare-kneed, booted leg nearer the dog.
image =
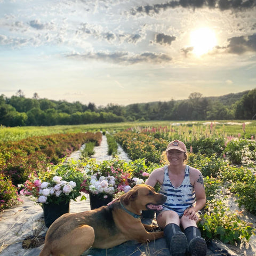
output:
[{"label": "woman's bare-kneed, booted leg nearer the dog", "polygon": [[180,230],[180,217],[174,211],[163,211],[157,216],[159,227],[164,229],[164,237],[172,256],[184,256],[188,242]]}]

